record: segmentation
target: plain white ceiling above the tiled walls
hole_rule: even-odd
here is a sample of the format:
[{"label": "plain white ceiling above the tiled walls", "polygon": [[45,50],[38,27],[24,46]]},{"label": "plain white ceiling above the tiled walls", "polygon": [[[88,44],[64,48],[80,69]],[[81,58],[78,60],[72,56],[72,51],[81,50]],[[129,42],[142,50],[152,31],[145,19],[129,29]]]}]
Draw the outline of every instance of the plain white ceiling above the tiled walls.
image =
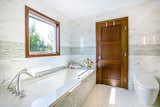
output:
[{"label": "plain white ceiling above the tiled walls", "polygon": [[44,0],[47,5],[72,19],[137,5],[144,1],[146,0]]}]

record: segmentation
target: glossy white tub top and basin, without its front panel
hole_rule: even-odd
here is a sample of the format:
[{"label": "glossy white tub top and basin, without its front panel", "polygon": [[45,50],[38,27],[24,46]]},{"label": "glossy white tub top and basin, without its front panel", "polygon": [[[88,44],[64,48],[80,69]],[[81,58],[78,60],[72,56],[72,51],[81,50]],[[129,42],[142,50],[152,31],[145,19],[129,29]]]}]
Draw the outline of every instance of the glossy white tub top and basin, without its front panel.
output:
[{"label": "glossy white tub top and basin, without its front panel", "polygon": [[62,69],[38,78],[21,81],[26,96],[20,98],[6,87],[0,88],[1,107],[49,107],[72,92],[95,70]]}]

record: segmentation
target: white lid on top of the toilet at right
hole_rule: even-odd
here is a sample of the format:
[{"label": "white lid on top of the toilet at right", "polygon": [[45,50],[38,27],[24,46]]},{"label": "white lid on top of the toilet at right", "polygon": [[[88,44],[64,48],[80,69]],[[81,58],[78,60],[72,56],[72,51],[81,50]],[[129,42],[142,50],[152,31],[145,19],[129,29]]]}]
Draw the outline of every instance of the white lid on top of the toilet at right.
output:
[{"label": "white lid on top of the toilet at right", "polygon": [[159,84],[153,76],[149,75],[136,75],[136,82],[141,88],[148,90],[158,90]]}]

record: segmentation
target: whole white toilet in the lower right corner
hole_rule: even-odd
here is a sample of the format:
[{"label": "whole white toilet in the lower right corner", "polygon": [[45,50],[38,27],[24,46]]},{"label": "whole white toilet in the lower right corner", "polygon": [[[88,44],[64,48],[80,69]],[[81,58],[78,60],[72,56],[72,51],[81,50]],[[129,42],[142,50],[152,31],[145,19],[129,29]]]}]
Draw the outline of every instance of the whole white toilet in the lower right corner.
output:
[{"label": "whole white toilet in the lower right corner", "polygon": [[154,104],[159,93],[159,84],[153,75],[136,72],[134,88],[140,102],[148,105]]}]

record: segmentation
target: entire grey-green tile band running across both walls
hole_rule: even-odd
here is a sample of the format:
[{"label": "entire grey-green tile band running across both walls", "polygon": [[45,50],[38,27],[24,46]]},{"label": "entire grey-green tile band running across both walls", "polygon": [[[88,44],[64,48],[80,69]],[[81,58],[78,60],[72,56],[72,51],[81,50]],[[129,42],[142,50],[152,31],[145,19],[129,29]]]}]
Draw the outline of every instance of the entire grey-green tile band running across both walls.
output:
[{"label": "entire grey-green tile band running across both walls", "polygon": [[[25,44],[10,41],[0,41],[0,58],[24,58]],[[61,47],[61,55],[95,55],[95,47]],[[160,56],[160,44],[131,45],[129,55]]]}]

